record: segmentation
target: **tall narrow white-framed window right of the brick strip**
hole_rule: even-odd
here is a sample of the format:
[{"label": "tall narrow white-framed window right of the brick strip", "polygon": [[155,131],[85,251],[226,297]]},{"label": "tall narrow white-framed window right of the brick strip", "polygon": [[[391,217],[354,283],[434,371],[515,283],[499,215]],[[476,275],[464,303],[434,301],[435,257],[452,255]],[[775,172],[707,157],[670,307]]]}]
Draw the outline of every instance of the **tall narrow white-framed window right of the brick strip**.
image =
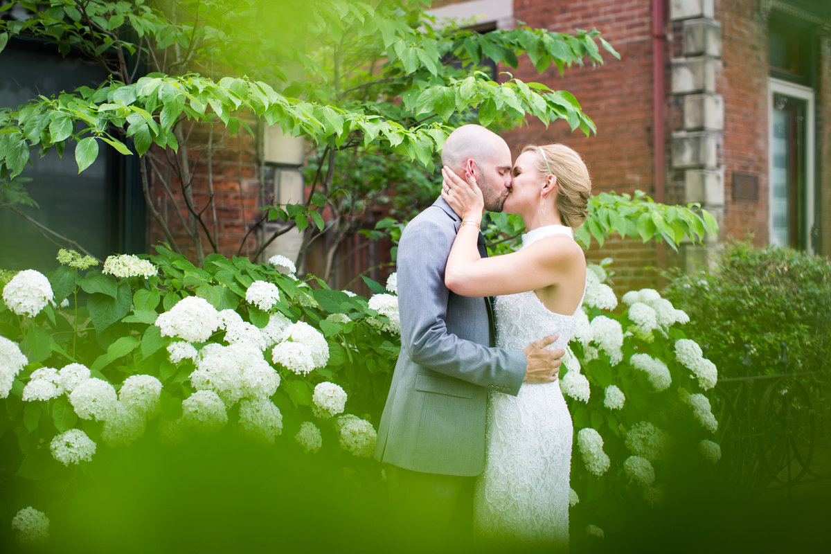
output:
[{"label": "tall narrow white-framed window right of the brick strip", "polygon": [[770,243],[814,252],[814,91],[771,78]]}]

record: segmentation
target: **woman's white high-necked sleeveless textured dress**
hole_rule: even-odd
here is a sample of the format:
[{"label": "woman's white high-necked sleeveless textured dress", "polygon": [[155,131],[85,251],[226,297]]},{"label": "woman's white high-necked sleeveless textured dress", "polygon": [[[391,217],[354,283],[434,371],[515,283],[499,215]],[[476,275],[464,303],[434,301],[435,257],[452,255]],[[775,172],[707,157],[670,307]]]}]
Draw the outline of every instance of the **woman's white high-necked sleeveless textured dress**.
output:
[{"label": "woman's white high-necked sleeveless textured dress", "polygon": [[[523,235],[523,248],[555,234],[573,236],[571,228],[548,225]],[[508,350],[553,333],[559,338],[548,348],[564,349],[577,329],[578,311],[548,311],[533,291],[497,297],[494,312],[497,346]],[[485,468],[475,488],[479,534],[568,545],[572,435],[559,381],[524,383],[516,396],[489,393]]]}]

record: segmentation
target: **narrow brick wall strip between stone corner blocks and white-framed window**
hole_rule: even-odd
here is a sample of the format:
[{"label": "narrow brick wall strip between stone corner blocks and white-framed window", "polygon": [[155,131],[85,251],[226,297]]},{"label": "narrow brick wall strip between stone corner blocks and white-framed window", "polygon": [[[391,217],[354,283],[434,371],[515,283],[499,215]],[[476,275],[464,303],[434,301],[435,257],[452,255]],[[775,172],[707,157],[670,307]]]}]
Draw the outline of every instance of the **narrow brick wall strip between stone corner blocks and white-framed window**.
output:
[{"label": "narrow brick wall strip between stone corner blocks and white-framed window", "polygon": [[[768,243],[768,37],[756,0],[717,0],[721,24],[722,67],[716,91],[724,98],[724,137],[719,164],[724,167],[725,210],[720,241],[745,239]],[[735,174],[758,179],[754,199],[735,199]]]}]

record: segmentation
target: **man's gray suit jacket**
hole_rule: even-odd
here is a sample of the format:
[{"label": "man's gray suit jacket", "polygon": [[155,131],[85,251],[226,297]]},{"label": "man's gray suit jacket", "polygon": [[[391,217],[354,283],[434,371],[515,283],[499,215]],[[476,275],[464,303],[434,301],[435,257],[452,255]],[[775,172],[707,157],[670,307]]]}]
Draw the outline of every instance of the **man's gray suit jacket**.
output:
[{"label": "man's gray suit jacket", "polygon": [[523,352],[489,348],[484,298],[445,287],[460,218],[444,199],[413,218],[398,247],[401,355],[378,429],[381,462],[425,473],[484,470],[488,389],[516,395]]}]

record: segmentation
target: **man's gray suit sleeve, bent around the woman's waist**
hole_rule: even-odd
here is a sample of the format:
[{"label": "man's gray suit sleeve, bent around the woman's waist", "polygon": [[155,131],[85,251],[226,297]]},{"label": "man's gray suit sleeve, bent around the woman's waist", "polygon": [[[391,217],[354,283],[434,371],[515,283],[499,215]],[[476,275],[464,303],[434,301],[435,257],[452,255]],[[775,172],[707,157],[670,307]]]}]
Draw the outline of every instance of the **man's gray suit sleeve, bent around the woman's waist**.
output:
[{"label": "man's gray suit sleeve, bent around the woman's waist", "polygon": [[445,287],[445,264],[455,228],[450,219],[443,223],[416,218],[401,236],[397,264],[401,347],[425,368],[517,395],[527,365],[523,352],[489,348],[447,330],[450,291]]}]

